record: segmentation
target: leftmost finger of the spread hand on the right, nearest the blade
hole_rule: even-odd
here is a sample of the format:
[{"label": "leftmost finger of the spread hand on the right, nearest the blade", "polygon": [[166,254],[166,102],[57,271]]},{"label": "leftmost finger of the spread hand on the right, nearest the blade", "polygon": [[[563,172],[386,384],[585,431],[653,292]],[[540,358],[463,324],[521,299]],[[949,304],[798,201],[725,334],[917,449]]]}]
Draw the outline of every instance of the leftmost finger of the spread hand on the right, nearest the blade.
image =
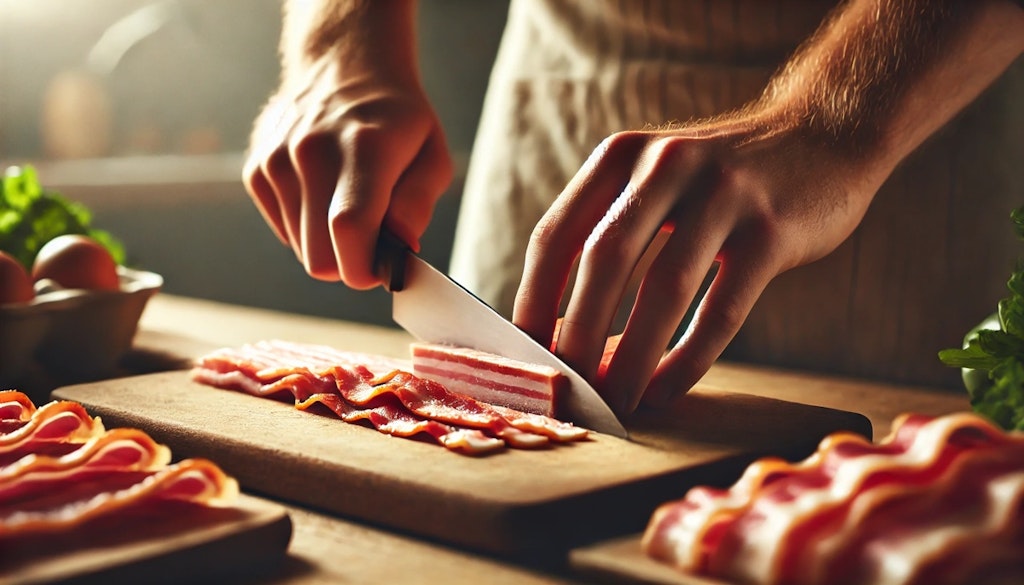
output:
[{"label": "leftmost finger of the spread hand on the right, nearest the blade", "polygon": [[643,143],[639,132],[614,134],[601,142],[534,228],[512,321],[545,347],[551,344],[572,264],[629,183]]}]

